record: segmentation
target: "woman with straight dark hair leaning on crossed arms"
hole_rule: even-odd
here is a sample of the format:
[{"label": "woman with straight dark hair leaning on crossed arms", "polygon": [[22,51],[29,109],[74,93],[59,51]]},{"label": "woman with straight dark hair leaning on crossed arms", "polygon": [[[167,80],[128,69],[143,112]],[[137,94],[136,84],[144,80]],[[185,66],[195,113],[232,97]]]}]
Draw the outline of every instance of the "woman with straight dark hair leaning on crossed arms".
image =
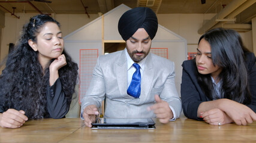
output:
[{"label": "woman with straight dark hair leaning on crossed arms", "polygon": [[239,33],[213,29],[198,42],[197,56],[182,64],[181,98],[186,117],[210,125],[256,120],[255,55]]}]

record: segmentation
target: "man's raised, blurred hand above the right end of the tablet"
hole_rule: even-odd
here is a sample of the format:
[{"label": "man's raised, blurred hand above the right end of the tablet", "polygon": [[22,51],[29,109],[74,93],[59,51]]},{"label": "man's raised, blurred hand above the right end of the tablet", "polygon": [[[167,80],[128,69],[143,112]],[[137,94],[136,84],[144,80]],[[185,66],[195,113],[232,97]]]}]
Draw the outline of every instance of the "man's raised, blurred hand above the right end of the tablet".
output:
[{"label": "man's raised, blurred hand above the right end of the tablet", "polygon": [[169,107],[169,104],[166,101],[163,101],[159,98],[158,95],[155,95],[156,103],[149,107],[149,110],[153,110],[156,114],[156,117],[161,123],[168,123],[170,119],[173,118],[173,112]]}]

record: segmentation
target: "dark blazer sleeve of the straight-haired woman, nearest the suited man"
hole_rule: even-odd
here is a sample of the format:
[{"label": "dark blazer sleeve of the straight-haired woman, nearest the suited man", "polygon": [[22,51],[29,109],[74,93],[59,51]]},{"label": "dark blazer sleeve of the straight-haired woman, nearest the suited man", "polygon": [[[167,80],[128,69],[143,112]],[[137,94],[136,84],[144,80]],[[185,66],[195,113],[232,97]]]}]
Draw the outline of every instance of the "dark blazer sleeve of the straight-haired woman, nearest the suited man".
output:
[{"label": "dark blazer sleeve of the straight-haired woman, nearest the suited man", "polygon": [[201,98],[200,92],[198,92],[201,89],[197,83],[193,66],[192,61],[184,61],[182,64],[180,95],[184,115],[190,119],[201,120],[197,117],[197,110],[204,99]]}]

